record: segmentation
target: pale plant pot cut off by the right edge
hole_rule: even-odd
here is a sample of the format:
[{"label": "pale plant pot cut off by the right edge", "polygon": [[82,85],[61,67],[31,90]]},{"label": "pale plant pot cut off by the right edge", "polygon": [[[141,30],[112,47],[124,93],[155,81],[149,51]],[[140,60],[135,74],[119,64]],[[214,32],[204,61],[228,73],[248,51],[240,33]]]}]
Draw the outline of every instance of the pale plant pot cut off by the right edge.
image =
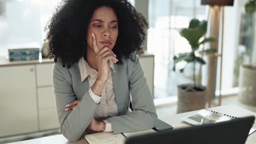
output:
[{"label": "pale plant pot cut off by the right edge", "polygon": [[238,100],[241,103],[256,105],[256,67],[240,65]]}]

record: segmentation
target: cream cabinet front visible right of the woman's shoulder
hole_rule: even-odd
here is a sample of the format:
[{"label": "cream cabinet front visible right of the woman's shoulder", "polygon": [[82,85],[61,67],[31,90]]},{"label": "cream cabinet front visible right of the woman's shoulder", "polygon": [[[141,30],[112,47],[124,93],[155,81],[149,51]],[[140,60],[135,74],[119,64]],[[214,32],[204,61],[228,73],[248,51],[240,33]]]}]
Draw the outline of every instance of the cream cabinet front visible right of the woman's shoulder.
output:
[{"label": "cream cabinet front visible right of the woman's shoulder", "polygon": [[141,56],[139,62],[147,78],[147,82],[154,97],[154,56]]}]

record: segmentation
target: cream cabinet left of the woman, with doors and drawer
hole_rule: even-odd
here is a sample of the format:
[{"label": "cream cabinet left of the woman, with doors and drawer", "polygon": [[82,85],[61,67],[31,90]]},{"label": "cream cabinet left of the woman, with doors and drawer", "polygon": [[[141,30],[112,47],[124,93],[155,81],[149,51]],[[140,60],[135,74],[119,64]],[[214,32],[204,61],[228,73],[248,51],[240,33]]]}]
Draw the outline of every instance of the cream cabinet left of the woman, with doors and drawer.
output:
[{"label": "cream cabinet left of the woman, with doors and drawer", "polygon": [[57,129],[53,63],[0,67],[0,137]]}]

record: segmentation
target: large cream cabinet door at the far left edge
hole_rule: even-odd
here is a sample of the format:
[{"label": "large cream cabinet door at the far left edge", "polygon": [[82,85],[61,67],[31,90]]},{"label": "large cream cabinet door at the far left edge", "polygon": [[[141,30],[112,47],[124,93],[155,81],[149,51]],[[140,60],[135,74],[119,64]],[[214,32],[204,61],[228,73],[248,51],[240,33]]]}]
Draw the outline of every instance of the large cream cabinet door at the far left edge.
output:
[{"label": "large cream cabinet door at the far left edge", "polygon": [[34,65],[0,67],[0,137],[38,131]]}]

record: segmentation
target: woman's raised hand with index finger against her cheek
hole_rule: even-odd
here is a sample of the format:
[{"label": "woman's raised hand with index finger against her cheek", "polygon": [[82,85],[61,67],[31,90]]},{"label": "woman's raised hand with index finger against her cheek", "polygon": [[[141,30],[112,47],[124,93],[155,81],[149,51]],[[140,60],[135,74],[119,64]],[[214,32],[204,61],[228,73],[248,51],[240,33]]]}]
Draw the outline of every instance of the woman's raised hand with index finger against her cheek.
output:
[{"label": "woman's raised hand with index finger against her cheek", "polygon": [[96,61],[97,61],[97,70],[98,70],[98,77],[97,80],[101,82],[107,82],[109,79],[110,68],[108,61],[113,61],[114,63],[118,62],[116,55],[109,47],[104,47],[102,50],[98,49],[96,44],[96,37],[95,34],[92,33],[92,46],[94,52],[96,54]]}]

